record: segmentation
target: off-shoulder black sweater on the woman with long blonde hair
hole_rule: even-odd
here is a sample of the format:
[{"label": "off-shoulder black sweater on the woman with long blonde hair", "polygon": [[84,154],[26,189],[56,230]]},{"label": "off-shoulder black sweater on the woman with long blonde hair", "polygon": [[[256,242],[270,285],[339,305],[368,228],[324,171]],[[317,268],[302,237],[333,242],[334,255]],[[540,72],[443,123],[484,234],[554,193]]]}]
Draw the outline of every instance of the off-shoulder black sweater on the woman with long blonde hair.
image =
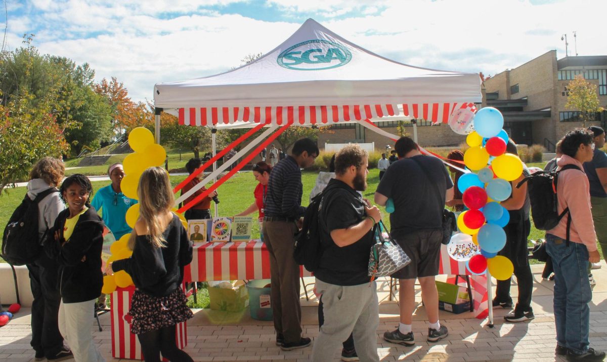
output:
[{"label": "off-shoulder black sweater on the woman with long blonde hair", "polygon": [[166,247],[153,247],[149,235],[138,235],[133,255],[117,260],[112,270],[131,275],[135,287],[152,296],[167,296],[183,281],[183,267],[192,261],[192,243],[177,215],[163,232]]}]

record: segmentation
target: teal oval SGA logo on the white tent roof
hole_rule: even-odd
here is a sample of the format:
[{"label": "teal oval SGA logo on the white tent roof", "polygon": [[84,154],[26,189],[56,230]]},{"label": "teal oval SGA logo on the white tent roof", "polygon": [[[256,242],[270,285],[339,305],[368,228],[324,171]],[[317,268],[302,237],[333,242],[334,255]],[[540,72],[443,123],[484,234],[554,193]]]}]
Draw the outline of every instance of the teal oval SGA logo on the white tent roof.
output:
[{"label": "teal oval SGA logo on the white tent roof", "polygon": [[313,39],[295,44],[280,53],[277,63],[294,70],[322,70],[341,67],[352,59],[346,47],[328,40]]}]

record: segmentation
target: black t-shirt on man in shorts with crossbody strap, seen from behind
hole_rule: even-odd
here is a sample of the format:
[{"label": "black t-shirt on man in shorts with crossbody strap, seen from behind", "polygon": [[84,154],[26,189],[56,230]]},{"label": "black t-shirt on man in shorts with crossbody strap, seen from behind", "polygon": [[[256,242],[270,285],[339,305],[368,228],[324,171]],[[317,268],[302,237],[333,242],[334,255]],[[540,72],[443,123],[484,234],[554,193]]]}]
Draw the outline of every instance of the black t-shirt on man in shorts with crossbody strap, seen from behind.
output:
[{"label": "black t-shirt on man in shorts with crossbody strap, seen from behind", "polygon": [[[419,160],[419,165],[413,158]],[[431,183],[422,167],[430,175]],[[447,168],[436,157],[416,155],[393,163],[377,189],[378,193],[394,200],[395,211],[390,214],[392,236],[442,228],[445,192],[452,187]]]}]

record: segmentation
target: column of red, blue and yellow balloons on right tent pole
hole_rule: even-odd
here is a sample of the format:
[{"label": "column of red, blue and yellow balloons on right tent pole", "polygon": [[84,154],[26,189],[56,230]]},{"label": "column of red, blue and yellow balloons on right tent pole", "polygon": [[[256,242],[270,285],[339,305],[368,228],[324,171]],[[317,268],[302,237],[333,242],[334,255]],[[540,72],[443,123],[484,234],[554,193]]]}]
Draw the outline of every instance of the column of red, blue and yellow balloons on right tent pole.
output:
[{"label": "column of red, blue and yellow balloons on right tent pole", "polygon": [[[497,253],[506,245],[503,227],[508,224],[510,214],[500,202],[510,197],[510,181],[521,176],[523,163],[517,155],[504,153],[508,135],[502,129],[504,117],[500,111],[492,107],[480,109],[472,119],[472,126],[462,127],[461,117],[457,115],[460,123],[453,126],[459,125],[458,133],[469,130],[464,133],[468,134],[466,142],[470,146],[464,153],[464,164],[476,173],[459,178],[458,189],[468,209],[457,220],[464,235],[453,235],[447,250],[453,259],[466,261],[471,273],[483,274],[488,268],[495,279],[506,280],[512,276],[514,267],[508,258]],[[469,248],[469,242],[478,248]]]}]

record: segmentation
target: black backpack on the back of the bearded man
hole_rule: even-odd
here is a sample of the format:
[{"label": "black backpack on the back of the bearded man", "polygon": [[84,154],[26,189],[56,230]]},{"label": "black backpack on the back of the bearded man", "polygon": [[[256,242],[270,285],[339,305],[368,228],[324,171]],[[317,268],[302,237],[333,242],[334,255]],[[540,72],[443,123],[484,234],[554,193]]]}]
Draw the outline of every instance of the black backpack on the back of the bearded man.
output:
[{"label": "black backpack on the back of the bearded man", "polygon": [[295,239],[293,258],[297,264],[304,265],[308,272],[315,272],[320,264],[323,251],[320,242],[320,204],[322,197],[331,188],[333,187],[327,186],[321,193],[313,197],[305,210],[302,230]]}]

